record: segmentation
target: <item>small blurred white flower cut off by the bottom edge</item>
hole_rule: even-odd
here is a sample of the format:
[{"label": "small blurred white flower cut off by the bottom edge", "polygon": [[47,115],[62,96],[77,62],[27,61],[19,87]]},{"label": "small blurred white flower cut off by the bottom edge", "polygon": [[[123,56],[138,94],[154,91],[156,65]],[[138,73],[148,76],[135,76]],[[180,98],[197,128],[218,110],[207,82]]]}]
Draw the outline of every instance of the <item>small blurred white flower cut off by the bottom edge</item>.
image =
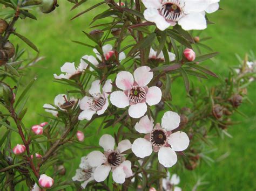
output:
[{"label": "small blurred white flower cut off by the bottom edge", "polygon": [[181,188],[176,186],[180,182],[180,178],[177,174],[173,174],[172,177],[170,172],[167,172],[167,177],[163,179],[162,185],[166,191],[181,191]]}]

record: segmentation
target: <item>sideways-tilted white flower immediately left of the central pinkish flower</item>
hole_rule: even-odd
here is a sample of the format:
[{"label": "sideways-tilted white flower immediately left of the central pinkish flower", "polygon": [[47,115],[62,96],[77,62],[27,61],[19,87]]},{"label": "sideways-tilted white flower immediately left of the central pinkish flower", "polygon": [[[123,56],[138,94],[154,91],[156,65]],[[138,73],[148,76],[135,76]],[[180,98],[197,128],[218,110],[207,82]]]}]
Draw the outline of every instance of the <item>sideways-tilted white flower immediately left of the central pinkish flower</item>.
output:
[{"label": "sideways-tilted white flower immediately left of the central pinkish flower", "polygon": [[83,111],[78,116],[79,120],[90,120],[96,113],[98,115],[104,114],[107,107],[109,106],[109,100],[107,97],[112,91],[112,81],[107,80],[102,88],[102,93],[100,91],[100,81],[95,80],[92,82],[91,89],[89,90],[89,96],[84,96],[80,101],[79,107]]}]

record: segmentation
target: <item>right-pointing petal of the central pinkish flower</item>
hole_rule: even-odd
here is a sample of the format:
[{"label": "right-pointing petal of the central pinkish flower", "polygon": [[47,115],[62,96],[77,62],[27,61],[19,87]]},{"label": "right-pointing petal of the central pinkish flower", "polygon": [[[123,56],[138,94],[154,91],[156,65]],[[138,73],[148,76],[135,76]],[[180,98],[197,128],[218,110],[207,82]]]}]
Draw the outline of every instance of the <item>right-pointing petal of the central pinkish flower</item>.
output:
[{"label": "right-pointing petal of the central pinkish flower", "polygon": [[147,94],[146,94],[147,104],[156,105],[161,101],[161,98],[162,98],[162,92],[160,88],[156,86],[152,86],[147,91]]}]

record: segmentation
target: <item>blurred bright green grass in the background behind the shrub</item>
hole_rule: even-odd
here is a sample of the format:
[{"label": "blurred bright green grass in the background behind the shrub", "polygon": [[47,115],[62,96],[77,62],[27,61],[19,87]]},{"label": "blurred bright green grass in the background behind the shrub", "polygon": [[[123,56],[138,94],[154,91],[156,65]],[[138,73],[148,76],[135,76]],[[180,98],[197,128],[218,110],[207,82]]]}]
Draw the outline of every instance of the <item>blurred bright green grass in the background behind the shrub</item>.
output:
[{"label": "blurred bright green grass in the background behind the shrub", "polygon": [[[45,121],[45,118],[39,114],[46,114],[42,108],[44,103],[53,103],[53,99],[57,94],[65,93],[69,87],[62,86],[58,83],[53,83],[53,73],[60,73],[60,66],[64,62],[76,62],[79,64],[80,58],[85,54],[92,54],[92,49],[72,43],[71,40],[84,41],[89,43],[89,40],[84,36],[82,30],[90,31],[89,23],[91,19],[106,7],[100,6],[85,15],[70,21],[70,18],[78,12],[89,8],[95,2],[87,2],[80,8],[70,11],[71,4],[65,1],[59,1],[59,8],[48,15],[36,13],[38,21],[25,19],[17,24],[17,32],[28,37],[37,45],[41,55],[46,56],[45,60],[38,63],[36,67],[31,68],[28,75],[23,77],[23,84],[28,83],[32,77],[37,76],[38,79],[31,91],[29,92],[29,101],[26,104],[28,112],[25,116],[25,125],[29,128],[33,124],[38,124]],[[214,51],[220,52],[217,58],[204,63],[205,66],[213,70],[219,76],[226,76],[228,67],[238,64],[235,58],[235,53],[241,57],[246,52],[256,48],[256,20],[255,20],[255,1],[221,1],[220,10],[212,15],[209,15],[210,20],[215,22],[214,25],[209,25],[203,32],[204,36],[211,36],[213,39],[207,41],[207,45],[212,47]],[[102,19],[100,22],[105,22],[107,19]],[[99,23],[99,22],[96,22]],[[11,41],[22,44],[22,47],[27,47],[15,37],[11,37]],[[29,51],[32,51],[29,49]],[[191,79],[193,79],[191,77]],[[193,79],[194,80],[194,79]],[[200,86],[205,84],[215,84],[217,79],[211,78],[200,82]],[[173,84],[172,94],[173,103],[184,104],[185,90],[183,82]],[[182,87],[182,88],[180,88]],[[256,84],[248,89],[248,97],[253,101],[253,105],[242,104],[241,111],[247,114],[248,118],[236,114],[233,119],[241,121],[239,125],[232,126],[228,131],[233,136],[232,139],[215,139],[214,147],[218,148],[217,152],[210,154],[212,158],[218,158],[226,152],[230,153],[225,160],[213,163],[211,166],[202,163],[194,172],[186,171],[181,175],[180,186],[184,190],[190,190],[191,186],[196,183],[195,176],[205,175],[205,181],[208,184],[204,187],[199,187],[198,190],[255,190],[256,183],[256,112],[255,112],[255,92]],[[179,94],[175,94],[179,92]],[[86,133],[93,133],[97,128],[97,123],[93,123],[90,128],[85,130]],[[106,133],[109,130],[103,131]],[[112,130],[111,130],[112,131]],[[98,145],[99,137],[93,136],[86,139],[87,144]],[[17,142],[18,142],[17,138]],[[69,169],[69,176],[75,173],[75,168],[78,167],[80,156],[87,154],[89,151],[77,150],[76,159],[72,162],[64,164]],[[171,169],[172,172],[172,169]]]}]

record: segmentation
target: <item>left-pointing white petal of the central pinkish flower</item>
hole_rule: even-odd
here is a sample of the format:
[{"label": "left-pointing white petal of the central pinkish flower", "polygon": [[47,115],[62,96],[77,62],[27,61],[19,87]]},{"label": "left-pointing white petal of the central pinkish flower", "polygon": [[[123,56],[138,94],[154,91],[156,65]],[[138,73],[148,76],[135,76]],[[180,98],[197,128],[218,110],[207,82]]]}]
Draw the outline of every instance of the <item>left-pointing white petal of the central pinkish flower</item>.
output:
[{"label": "left-pointing white petal of the central pinkish flower", "polygon": [[114,91],[110,94],[110,102],[118,108],[125,108],[130,104],[129,98],[123,91]]}]

